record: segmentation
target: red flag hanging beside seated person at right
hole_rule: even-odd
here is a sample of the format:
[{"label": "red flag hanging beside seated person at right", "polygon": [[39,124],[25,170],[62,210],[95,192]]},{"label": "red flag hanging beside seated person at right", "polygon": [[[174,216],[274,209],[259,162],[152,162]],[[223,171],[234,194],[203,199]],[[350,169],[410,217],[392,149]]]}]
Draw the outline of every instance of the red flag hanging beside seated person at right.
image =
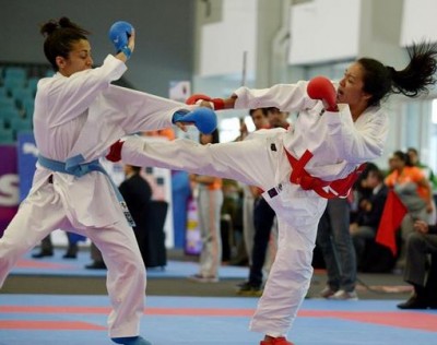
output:
[{"label": "red flag hanging beside seated person at right", "polygon": [[376,233],[376,242],[390,248],[393,257],[397,255],[398,246],[395,241],[395,233],[398,231],[403,217],[408,213],[405,205],[399,199],[393,190],[389,190],[381,219],[379,221],[378,230]]}]

